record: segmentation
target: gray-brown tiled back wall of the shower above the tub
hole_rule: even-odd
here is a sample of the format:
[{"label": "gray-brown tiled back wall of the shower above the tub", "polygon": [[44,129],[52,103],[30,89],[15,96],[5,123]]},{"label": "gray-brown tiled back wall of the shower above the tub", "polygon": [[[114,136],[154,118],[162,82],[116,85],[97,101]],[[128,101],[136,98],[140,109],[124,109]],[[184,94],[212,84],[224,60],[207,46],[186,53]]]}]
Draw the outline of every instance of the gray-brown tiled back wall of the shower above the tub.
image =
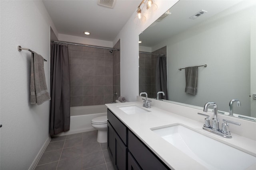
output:
[{"label": "gray-brown tiled back wall of the shower above the tub", "polygon": [[71,107],[112,102],[113,54],[110,50],[77,45],[68,45],[68,50]]}]

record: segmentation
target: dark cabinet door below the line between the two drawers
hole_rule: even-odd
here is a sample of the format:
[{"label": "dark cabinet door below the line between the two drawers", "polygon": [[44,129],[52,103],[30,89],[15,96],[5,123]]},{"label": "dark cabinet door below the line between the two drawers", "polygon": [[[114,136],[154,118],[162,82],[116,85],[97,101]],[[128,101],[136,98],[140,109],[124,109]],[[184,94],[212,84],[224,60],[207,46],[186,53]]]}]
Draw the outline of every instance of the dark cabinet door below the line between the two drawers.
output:
[{"label": "dark cabinet door below the line between the two drawers", "polygon": [[114,168],[116,170],[127,170],[128,148],[116,133],[114,134],[114,150]]}]

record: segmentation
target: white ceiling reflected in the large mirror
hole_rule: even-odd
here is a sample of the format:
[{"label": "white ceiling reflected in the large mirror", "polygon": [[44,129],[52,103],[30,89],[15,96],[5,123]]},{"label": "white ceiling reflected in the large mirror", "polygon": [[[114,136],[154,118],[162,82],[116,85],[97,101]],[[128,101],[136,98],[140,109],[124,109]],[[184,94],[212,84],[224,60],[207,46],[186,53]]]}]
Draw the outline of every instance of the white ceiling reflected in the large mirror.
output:
[{"label": "white ceiling reflected in the large mirror", "polygon": [[[241,0],[180,0],[172,8],[170,14],[161,22],[155,22],[140,34],[140,46],[154,47],[158,43],[176,35],[214,15],[238,4]],[[195,20],[190,19],[200,10],[207,13]]]}]

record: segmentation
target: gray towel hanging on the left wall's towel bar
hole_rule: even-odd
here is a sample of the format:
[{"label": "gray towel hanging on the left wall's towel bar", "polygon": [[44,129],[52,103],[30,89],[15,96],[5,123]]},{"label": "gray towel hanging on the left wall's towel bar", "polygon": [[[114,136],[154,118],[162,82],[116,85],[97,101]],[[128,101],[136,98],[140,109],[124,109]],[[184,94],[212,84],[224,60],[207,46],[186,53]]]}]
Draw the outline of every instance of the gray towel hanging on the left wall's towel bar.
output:
[{"label": "gray towel hanging on the left wall's towel bar", "polygon": [[41,105],[50,99],[44,75],[44,58],[31,53],[30,104]]}]

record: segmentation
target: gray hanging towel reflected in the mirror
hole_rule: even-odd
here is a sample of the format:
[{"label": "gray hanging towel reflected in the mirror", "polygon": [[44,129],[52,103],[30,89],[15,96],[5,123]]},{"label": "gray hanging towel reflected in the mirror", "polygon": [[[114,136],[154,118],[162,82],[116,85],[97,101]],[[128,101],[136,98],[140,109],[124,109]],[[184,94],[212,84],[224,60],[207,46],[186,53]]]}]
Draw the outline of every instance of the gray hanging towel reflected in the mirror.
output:
[{"label": "gray hanging towel reflected in the mirror", "polygon": [[186,67],[186,88],[185,92],[189,94],[196,95],[197,93],[197,68],[198,66]]}]

